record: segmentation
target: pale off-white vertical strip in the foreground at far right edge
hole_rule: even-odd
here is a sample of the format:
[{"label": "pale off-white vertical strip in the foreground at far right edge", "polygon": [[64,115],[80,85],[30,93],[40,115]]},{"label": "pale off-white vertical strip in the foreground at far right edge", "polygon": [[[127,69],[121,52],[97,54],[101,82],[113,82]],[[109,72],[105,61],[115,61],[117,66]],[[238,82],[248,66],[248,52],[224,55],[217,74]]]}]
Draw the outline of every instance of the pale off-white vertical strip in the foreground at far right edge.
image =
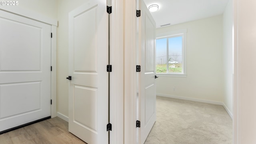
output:
[{"label": "pale off-white vertical strip in the foreground at far right edge", "polygon": [[234,144],[256,144],[256,1],[234,3]]}]

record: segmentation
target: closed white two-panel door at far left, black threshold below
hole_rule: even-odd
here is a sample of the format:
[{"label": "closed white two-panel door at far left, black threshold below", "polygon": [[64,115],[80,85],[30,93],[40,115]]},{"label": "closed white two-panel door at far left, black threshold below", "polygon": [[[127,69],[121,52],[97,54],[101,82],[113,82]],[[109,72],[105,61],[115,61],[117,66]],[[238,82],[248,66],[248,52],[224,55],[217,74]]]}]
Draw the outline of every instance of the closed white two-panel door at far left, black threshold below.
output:
[{"label": "closed white two-panel door at far left, black threshold below", "polygon": [[0,10],[0,131],[51,116],[51,26]]}]

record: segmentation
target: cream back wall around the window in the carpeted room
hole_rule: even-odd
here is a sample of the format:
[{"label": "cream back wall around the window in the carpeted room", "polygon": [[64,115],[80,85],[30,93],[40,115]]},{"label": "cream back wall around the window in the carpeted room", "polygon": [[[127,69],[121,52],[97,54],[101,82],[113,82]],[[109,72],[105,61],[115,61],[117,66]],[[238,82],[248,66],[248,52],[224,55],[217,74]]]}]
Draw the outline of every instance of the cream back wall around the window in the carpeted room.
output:
[{"label": "cream back wall around the window in the carpeted room", "polygon": [[222,102],[222,15],[158,28],[156,33],[180,29],[187,29],[187,76],[181,78],[159,75],[156,79],[156,93]]}]

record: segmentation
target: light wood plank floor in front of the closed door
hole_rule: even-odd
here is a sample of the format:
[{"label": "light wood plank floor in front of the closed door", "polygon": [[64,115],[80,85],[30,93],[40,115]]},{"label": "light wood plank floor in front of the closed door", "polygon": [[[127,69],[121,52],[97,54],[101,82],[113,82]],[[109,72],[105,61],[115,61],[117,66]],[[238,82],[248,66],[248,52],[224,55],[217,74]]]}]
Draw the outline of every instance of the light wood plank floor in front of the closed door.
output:
[{"label": "light wood plank floor in front of the closed door", "polygon": [[55,117],[0,135],[0,144],[86,144],[70,132],[68,122]]}]

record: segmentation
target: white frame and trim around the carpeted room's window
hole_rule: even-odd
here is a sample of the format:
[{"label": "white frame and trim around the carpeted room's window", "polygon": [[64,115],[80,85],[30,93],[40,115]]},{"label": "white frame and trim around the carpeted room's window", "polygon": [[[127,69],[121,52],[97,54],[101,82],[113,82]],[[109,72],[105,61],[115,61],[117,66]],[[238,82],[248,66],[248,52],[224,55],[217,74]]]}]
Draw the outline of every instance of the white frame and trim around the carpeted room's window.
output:
[{"label": "white frame and trim around the carpeted room's window", "polygon": [[[167,39],[167,51],[166,54],[168,55],[168,38],[173,38],[177,36],[182,36],[182,72],[168,72],[168,73],[157,73],[159,76],[168,76],[168,77],[186,77],[187,76],[187,61],[186,61],[186,54],[187,54],[187,29],[182,30],[175,30],[170,32],[162,32],[156,34],[156,39]],[[167,56],[168,58],[168,56]]]}]

